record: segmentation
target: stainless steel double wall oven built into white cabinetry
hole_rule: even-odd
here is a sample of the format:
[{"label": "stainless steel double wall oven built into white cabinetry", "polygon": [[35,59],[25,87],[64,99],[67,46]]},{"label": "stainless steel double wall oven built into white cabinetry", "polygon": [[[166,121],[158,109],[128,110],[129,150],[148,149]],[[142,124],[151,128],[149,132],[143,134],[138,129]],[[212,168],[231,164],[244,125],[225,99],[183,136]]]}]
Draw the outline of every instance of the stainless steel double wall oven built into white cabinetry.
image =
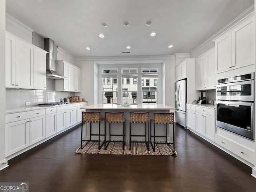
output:
[{"label": "stainless steel double wall oven built into white cabinetry", "polygon": [[216,126],[254,140],[254,73],[217,80]]}]

